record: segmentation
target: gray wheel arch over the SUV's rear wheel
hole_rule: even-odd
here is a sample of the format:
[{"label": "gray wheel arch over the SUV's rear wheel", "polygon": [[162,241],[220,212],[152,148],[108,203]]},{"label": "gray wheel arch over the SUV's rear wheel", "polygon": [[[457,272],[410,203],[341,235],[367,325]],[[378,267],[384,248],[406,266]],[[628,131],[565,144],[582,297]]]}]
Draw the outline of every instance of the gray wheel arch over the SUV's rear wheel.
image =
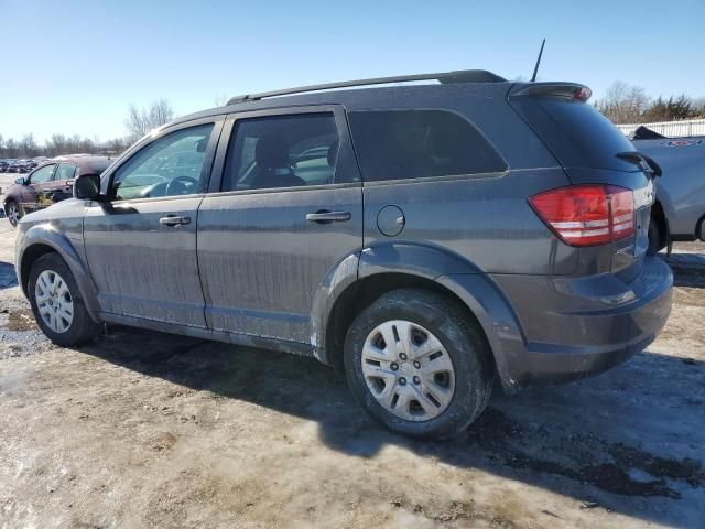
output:
[{"label": "gray wheel arch over the SUV's rear wheel", "polygon": [[442,248],[401,244],[362,250],[358,273],[343,287],[328,289],[326,312],[314,323],[316,357],[340,368],[343,343],[352,320],[380,295],[401,288],[419,288],[453,300],[477,323],[488,343],[497,373],[509,392],[514,382],[506,365],[524,350],[525,341],[513,310],[498,287],[471,262]]}]

